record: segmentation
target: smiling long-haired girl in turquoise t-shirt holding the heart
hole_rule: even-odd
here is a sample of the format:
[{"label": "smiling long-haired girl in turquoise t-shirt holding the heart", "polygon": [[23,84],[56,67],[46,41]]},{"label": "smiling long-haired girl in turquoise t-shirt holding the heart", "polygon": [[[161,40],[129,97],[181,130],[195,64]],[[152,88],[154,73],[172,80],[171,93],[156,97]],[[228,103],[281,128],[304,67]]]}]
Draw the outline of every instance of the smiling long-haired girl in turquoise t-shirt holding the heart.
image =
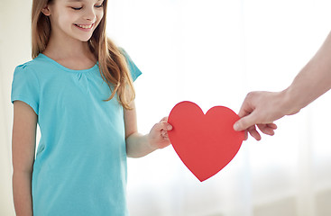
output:
[{"label": "smiling long-haired girl in turquoise t-shirt holding the heart", "polygon": [[170,145],[167,118],[137,132],[141,72],[106,38],[106,6],[33,0],[33,59],[15,68],[11,98],[17,216],[128,215],[126,156]]}]

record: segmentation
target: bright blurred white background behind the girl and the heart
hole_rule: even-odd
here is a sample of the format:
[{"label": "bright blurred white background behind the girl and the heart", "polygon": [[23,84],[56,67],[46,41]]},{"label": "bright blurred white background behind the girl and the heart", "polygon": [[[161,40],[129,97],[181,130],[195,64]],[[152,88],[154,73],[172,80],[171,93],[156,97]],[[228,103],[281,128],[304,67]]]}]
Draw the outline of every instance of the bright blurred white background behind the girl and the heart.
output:
[{"label": "bright blurred white background behind the girl and the heart", "polygon": [[[107,33],[143,76],[134,83],[148,133],[180,101],[239,112],[253,90],[280,91],[331,30],[329,0],[109,0]],[[14,216],[10,102],[14,67],[31,59],[32,0],[0,0],[0,215]],[[128,160],[133,216],[331,215],[331,93],[244,141],[200,183],[170,146]],[[40,134],[38,134],[40,136]]]}]

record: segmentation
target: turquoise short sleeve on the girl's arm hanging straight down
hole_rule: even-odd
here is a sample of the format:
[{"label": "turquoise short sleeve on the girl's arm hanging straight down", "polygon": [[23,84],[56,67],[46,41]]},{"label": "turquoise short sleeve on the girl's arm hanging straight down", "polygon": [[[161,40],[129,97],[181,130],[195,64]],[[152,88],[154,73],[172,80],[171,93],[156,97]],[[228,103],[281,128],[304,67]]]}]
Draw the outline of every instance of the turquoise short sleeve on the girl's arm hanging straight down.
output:
[{"label": "turquoise short sleeve on the girl's arm hanging straight down", "polygon": [[11,101],[23,101],[39,113],[39,82],[34,71],[25,64],[14,70]]}]

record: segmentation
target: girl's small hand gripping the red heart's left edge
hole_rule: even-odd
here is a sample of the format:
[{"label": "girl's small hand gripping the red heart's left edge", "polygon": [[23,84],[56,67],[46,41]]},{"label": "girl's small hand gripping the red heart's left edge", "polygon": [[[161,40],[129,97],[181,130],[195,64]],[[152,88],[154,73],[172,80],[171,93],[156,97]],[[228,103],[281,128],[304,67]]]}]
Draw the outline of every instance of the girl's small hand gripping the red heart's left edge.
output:
[{"label": "girl's small hand gripping the red heart's left edge", "polygon": [[156,123],[152,127],[152,130],[148,134],[148,141],[151,148],[165,148],[170,145],[168,130],[172,130],[172,126],[168,123],[168,117],[162,118],[159,123]]}]

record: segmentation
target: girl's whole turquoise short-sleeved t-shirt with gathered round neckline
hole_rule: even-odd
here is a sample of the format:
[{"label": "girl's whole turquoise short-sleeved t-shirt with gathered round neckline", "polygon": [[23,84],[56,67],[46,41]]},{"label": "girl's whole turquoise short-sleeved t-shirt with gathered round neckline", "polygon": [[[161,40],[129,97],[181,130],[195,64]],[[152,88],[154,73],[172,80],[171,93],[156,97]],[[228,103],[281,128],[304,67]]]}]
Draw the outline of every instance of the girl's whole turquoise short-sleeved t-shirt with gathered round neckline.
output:
[{"label": "girl's whole turquoise short-sleeved t-shirt with gathered round neckline", "polygon": [[[141,75],[124,52],[135,80]],[[99,67],[72,70],[40,54],[15,68],[12,102],[38,115],[33,216],[126,216],[124,110]]]}]

